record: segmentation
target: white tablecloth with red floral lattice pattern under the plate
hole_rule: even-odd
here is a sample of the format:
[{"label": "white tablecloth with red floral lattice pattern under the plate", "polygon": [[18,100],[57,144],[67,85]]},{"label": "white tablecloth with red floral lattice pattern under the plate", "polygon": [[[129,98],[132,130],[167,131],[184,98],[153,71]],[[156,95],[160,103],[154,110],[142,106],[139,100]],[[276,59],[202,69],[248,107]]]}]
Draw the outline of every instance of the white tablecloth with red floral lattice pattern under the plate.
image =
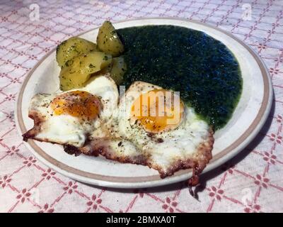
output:
[{"label": "white tablecloth with red floral lattice pattern under the plate", "polygon": [[[23,79],[62,40],[106,19],[158,16],[194,19],[233,33],[258,52],[272,78],[275,99],[267,123],[241,154],[202,176],[199,201],[184,183],[123,190],[75,182],[35,159],[15,126]],[[0,212],[283,211],[282,0],[49,0],[37,5],[2,0],[0,22]]]}]

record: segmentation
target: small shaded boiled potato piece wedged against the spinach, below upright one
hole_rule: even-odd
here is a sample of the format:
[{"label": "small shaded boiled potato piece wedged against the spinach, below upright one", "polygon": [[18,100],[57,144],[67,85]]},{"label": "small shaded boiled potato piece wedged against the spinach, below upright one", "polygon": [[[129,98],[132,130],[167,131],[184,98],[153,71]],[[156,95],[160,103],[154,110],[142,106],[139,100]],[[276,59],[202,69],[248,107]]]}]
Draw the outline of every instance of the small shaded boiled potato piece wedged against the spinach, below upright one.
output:
[{"label": "small shaded boiled potato piece wedged against the spinach, below upright one", "polygon": [[112,60],[112,68],[110,74],[112,79],[116,82],[117,85],[121,84],[123,75],[127,70],[127,65],[124,60],[124,57],[114,57]]}]

